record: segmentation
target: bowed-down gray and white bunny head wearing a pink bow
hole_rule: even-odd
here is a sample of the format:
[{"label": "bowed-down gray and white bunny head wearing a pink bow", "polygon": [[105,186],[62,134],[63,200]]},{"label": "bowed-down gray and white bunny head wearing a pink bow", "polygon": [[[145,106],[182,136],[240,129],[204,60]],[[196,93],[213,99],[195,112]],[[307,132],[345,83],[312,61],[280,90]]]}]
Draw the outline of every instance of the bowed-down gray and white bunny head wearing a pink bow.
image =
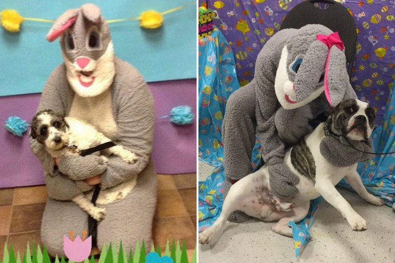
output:
[{"label": "bowed-down gray and white bunny head wearing a pink bow", "polygon": [[284,109],[304,106],[323,92],[336,106],[354,93],[338,33],[323,25],[301,27],[282,50],[274,86]]}]

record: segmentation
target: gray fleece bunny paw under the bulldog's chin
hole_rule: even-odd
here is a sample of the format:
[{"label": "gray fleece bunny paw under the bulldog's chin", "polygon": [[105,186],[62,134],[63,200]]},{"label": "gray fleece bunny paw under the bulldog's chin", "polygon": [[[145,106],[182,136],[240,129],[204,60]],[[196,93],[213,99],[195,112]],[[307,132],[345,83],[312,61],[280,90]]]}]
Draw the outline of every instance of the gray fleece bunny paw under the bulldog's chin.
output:
[{"label": "gray fleece bunny paw under the bulldog's chin", "polygon": [[[358,142],[348,139],[348,141],[358,150],[364,152],[374,152],[372,140]],[[320,144],[320,152],[324,158],[339,167],[347,167],[357,162],[366,162],[373,158],[373,154],[362,153],[352,148],[343,137],[328,136]]]}]

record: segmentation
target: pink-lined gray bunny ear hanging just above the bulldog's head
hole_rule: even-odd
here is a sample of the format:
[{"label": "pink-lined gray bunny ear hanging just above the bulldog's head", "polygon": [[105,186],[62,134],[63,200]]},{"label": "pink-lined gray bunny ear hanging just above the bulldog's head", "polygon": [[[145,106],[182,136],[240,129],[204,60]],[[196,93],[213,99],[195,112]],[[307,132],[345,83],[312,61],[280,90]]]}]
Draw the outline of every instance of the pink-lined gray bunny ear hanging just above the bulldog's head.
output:
[{"label": "pink-lined gray bunny ear hanging just above the bulldog's head", "polygon": [[325,69],[325,95],[331,106],[344,99],[356,99],[357,95],[349,81],[344,53],[332,46]]}]

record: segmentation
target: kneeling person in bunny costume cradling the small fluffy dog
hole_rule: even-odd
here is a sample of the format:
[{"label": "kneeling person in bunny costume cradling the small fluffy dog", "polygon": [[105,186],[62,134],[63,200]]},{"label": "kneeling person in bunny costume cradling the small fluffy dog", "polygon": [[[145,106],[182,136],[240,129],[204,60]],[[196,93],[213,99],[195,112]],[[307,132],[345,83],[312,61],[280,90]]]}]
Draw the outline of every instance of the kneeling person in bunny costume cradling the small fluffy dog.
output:
[{"label": "kneeling person in bunny costume cradling the small fluffy dog", "polygon": [[[151,247],[157,181],[150,157],[154,116],[148,86],[132,65],[114,56],[108,24],[97,6],[67,10],[47,35],[49,41],[58,37],[64,63],[51,73],[37,111],[51,109],[89,122],[134,152],[138,160],[130,164],[110,156],[104,162],[87,155],[64,156],[55,163],[41,144],[30,140],[44,167],[49,194],[42,242],[51,255],[64,255],[63,236],[70,230],[81,235],[88,229],[87,213],[67,200],[100,184],[107,192],[119,192],[103,205],[106,217],[97,225],[98,248],[114,241],[119,246],[120,240],[125,251],[134,250],[136,242],[143,240]],[[122,190],[136,178],[131,191]]]}]

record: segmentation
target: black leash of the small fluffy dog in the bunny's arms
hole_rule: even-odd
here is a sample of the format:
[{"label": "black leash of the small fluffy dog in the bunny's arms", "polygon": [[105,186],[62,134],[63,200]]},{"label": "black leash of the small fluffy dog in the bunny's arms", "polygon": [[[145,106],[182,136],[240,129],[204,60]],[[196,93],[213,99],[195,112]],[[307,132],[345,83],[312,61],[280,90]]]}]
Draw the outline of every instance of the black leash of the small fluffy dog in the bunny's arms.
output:
[{"label": "black leash of the small fluffy dog in the bunny's arms", "polygon": [[[80,155],[86,156],[88,154],[92,154],[94,152],[99,152],[99,151],[105,150],[105,149],[110,148],[115,145],[116,144],[114,142],[103,143],[98,146],[95,146],[95,147],[92,147],[92,148],[89,148],[86,150],[82,150]],[[97,197],[99,196],[100,190],[101,190],[100,185],[95,185],[95,189],[93,190],[93,196],[92,196],[92,200],[91,200],[91,202],[95,206],[96,206],[96,200],[97,200]],[[88,215],[88,236],[92,236],[92,247],[97,246],[97,221],[91,215]]]}]

